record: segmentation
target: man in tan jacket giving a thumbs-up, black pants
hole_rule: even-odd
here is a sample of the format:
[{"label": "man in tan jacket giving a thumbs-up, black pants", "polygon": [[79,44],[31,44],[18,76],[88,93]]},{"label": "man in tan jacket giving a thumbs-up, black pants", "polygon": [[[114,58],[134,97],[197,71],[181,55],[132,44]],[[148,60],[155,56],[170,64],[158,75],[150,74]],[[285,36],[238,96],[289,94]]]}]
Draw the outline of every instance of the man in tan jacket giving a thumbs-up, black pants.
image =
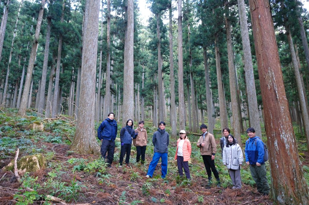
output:
[{"label": "man in tan jacket giving a thumbs-up, black pants", "polygon": [[202,124],[200,127],[203,134],[197,142],[197,147],[200,148],[201,155],[208,175],[208,187],[211,185],[211,171],[217,179],[217,187],[220,187],[219,173],[214,165],[214,157],[217,151],[217,144],[214,135],[207,132],[207,126]]}]

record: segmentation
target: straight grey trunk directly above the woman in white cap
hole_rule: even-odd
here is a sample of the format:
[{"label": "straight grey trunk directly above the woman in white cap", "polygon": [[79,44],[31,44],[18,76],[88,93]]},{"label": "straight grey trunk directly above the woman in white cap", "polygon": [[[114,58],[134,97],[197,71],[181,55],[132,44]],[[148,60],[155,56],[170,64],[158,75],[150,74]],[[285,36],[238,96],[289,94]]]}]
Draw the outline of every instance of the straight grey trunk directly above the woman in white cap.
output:
[{"label": "straight grey trunk directly above the woman in white cap", "polygon": [[185,106],[184,106],[184,66],[182,52],[182,1],[178,0],[178,115],[179,129],[185,129]]}]

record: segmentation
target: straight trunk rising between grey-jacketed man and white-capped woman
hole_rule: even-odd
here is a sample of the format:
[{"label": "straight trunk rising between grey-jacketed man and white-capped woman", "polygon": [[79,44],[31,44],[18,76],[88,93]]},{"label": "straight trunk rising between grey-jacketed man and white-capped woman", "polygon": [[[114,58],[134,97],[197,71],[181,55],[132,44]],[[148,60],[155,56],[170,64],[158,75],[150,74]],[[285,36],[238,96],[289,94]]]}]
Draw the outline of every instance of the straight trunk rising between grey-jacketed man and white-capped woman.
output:
[{"label": "straight trunk rising between grey-jacketed man and white-capped woman", "polygon": [[[169,60],[170,60],[170,93],[171,93],[171,111],[170,111],[170,119],[171,119],[171,137],[177,137],[177,113],[176,113],[176,103],[175,103],[175,78],[174,78],[174,57],[173,57],[173,25],[172,25],[172,4],[170,0],[169,7]],[[143,100],[143,99],[142,99]]]}]

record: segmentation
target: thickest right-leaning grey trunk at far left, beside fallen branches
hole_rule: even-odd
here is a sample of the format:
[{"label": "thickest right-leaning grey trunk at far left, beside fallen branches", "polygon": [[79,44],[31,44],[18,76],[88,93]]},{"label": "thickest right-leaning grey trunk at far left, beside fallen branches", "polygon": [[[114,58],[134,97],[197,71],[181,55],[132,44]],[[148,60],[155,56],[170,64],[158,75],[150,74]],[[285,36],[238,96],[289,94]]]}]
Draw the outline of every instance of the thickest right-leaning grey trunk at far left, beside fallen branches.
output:
[{"label": "thickest right-leaning grey trunk at far left, beside fallen branches", "polygon": [[34,66],[34,61],[36,59],[36,49],[37,49],[38,41],[39,41],[39,37],[40,37],[40,30],[41,30],[41,24],[42,24],[42,19],[43,19],[45,1],[46,0],[41,1],[38,21],[36,23],[36,33],[34,35],[34,40],[33,40],[33,43],[32,43],[32,48],[31,48],[31,53],[30,53],[30,58],[29,58],[29,64],[28,64],[27,75],[26,75],[26,82],[25,82],[25,86],[24,86],[24,89],[23,89],[23,96],[22,96],[22,99],[21,99],[19,111],[17,113],[17,115],[21,115],[21,116],[26,115],[28,94],[29,94],[29,89],[30,89],[30,83],[31,83],[31,78],[32,78],[32,70],[33,70],[33,66]]}]

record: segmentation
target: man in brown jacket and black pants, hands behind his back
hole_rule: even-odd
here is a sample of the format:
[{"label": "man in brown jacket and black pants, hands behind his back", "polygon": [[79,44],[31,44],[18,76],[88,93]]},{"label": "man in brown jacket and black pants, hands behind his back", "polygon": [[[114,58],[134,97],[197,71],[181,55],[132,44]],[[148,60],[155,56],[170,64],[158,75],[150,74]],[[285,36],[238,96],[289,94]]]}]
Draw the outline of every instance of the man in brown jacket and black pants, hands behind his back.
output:
[{"label": "man in brown jacket and black pants, hands behind his back", "polygon": [[144,121],[140,121],[138,123],[138,128],[135,129],[135,133],[137,133],[136,139],[133,139],[133,145],[136,147],[136,163],[139,162],[139,159],[142,155],[141,164],[145,162],[145,152],[147,146],[147,131],[144,128]]}]

